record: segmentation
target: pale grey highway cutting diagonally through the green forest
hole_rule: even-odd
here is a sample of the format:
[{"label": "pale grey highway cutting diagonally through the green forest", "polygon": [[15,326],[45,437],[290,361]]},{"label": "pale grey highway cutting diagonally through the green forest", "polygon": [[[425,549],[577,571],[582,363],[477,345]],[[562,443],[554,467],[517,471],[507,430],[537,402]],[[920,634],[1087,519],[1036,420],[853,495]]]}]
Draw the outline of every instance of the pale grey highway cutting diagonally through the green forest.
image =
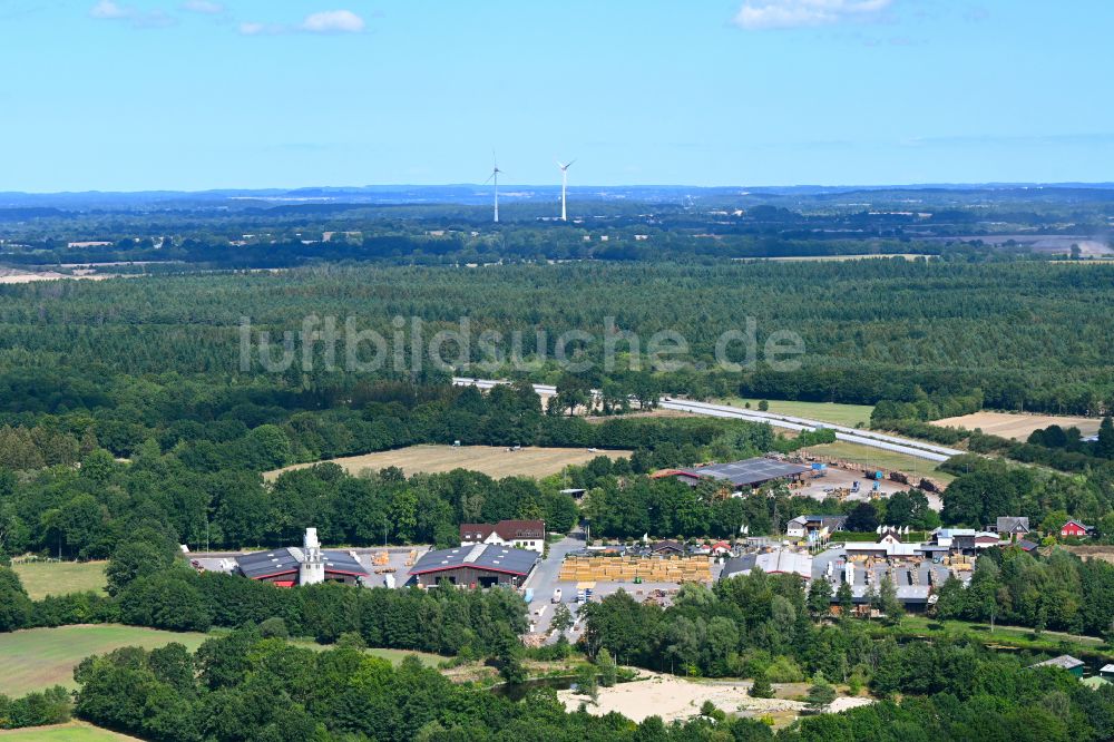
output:
[{"label": "pale grey highway cutting diagonally through the green forest", "polygon": [[[452,379],[452,383],[458,385],[475,385],[480,389],[491,389],[496,384],[507,382],[492,379],[468,379],[463,377],[455,377]],[[557,388],[549,384],[534,384],[534,391],[538,394],[551,396],[557,393]],[[859,430],[858,428],[848,428],[846,426],[831,424],[820,420],[810,420],[808,418],[774,414],[772,412],[760,412],[758,410],[744,410],[742,408],[732,407],[731,404],[694,402],[691,400],[673,399],[672,397],[666,396],[658,402],[658,407],[663,410],[677,410],[680,412],[690,412],[692,414],[706,414],[713,418],[734,418],[737,420],[749,420],[751,422],[768,422],[775,428],[784,428],[786,430],[815,430],[817,428],[828,428],[836,433],[836,440],[842,440],[849,443],[859,443],[860,446],[869,446],[870,448],[877,448],[883,451],[906,453],[927,461],[947,461],[952,456],[962,453],[962,451],[955,448],[937,446],[936,443],[929,443],[920,440],[900,438],[898,436],[874,432],[872,430]]]}]

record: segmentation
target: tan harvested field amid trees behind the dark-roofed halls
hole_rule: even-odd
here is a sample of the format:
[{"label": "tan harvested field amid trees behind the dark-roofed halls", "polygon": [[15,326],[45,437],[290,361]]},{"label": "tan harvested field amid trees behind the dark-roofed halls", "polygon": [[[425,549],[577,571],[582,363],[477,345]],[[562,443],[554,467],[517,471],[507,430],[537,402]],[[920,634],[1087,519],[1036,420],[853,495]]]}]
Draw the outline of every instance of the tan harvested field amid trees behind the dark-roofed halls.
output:
[{"label": "tan harvested field amid trees behind the dark-roofed halls", "polygon": [[[508,451],[499,446],[411,446],[394,451],[380,451],[364,456],[349,456],[332,459],[351,473],[363,469],[378,471],[387,467],[399,467],[407,476],[414,473],[438,473],[453,469],[470,469],[501,479],[504,477],[547,477],[569,465],[587,463],[597,456],[613,459],[631,456],[631,451],[589,451],[586,448],[536,448],[526,447],[520,451]],[[266,480],[275,479],[289,469],[304,469],[313,463],[295,463],[263,475]]]}]

